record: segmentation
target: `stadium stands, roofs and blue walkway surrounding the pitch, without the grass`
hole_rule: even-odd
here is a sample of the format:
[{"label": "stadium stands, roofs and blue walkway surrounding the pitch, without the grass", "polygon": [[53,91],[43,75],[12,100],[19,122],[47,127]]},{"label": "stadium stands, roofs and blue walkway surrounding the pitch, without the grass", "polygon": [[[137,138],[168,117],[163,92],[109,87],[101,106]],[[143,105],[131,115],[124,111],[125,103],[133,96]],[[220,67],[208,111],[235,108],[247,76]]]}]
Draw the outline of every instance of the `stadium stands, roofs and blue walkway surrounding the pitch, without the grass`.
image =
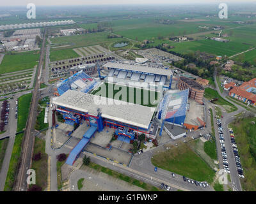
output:
[{"label": "stadium stands, roofs and blue walkway surrounding the pitch, without the grass", "polygon": [[[157,106],[145,106],[93,95],[92,92],[104,82],[95,80],[83,70],[60,82],[57,85],[58,97],[52,99],[54,109],[63,115],[67,124],[86,122],[87,126],[90,126],[82,140],[70,152],[67,164],[72,165],[76,161],[80,152],[97,131],[108,131],[109,128],[113,128],[116,136],[124,137],[124,141],[132,143],[142,133],[154,140],[159,124],[160,126],[162,124],[162,131],[164,122],[180,127],[184,125],[189,89],[170,90],[172,71],[118,62],[107,62],[102,68],[109,71],[105,80],[115,77],[144,84],[161,84],[162,89],[165,87],[169,91],[166,91],[164,96],[163,90],[160,92],[162,97]],[[149,87],[150,85],[148,85],[148,91]]]}]

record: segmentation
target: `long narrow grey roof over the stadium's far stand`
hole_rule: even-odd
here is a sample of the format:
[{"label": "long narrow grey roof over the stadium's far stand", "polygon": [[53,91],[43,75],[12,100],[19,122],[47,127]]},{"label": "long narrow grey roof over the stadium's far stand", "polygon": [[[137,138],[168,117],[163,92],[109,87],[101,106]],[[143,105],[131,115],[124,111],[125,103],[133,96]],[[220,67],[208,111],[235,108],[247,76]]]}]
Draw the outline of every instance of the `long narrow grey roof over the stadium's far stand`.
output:
[{"label": "long narrow grey roof over the stadium's far stand", "polygon": [[127,71],[141,71],[144,73],[152,73],[154,75],[172,75],[170,69],[152,68],[150,66],[143,66],[141,64],[125,64],[121,62],[107,62],[103,65],[104,67],[114,68],[114,69],[124,69]]}]

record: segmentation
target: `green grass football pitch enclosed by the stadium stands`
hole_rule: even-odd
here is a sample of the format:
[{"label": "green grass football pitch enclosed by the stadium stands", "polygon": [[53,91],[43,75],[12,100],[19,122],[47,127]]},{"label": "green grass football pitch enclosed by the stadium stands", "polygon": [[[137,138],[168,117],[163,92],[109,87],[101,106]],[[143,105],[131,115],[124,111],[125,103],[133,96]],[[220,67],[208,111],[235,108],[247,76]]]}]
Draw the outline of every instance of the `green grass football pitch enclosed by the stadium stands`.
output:
[{"label": "green grass football pitch enclosed by the stadium stands", "polygon": [[156,107],[160,98],[160,93],[156,91],[110,83],[101,84],[91,94],[148,107]]}]

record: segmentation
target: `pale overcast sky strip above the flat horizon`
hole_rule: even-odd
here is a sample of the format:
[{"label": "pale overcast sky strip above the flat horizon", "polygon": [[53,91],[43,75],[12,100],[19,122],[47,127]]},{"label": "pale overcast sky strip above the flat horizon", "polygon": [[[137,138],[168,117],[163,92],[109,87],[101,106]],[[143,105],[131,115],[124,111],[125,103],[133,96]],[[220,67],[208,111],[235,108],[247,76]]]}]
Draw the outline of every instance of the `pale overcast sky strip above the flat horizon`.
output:
[{"label": "pale overcast sky strip above the flat horizon", "polygon": [[[24,6],[34,3],[36,6],[95,5],[95,4],[173,4],[173,3],[238,3],[242,0],[0,0],[0,6]],[[255,0],[245,0],[255,2]]]}]

